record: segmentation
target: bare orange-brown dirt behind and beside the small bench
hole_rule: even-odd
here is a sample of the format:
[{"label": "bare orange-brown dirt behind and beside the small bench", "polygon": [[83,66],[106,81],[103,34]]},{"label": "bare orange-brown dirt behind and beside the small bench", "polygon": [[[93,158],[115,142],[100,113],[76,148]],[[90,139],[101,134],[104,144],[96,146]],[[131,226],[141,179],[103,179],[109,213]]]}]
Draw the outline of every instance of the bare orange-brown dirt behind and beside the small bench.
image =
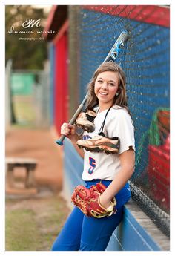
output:
[{"label": "bare orange-brown dirt behind and beside the small bench", "polygon": [[[38,186],[62,189],[62,147],[55,143],[53,130],[10,128],[5,140],[6,157],[27,157],[37,161],[35,171]],[[16,173],[24,175],[16,168]]]}]

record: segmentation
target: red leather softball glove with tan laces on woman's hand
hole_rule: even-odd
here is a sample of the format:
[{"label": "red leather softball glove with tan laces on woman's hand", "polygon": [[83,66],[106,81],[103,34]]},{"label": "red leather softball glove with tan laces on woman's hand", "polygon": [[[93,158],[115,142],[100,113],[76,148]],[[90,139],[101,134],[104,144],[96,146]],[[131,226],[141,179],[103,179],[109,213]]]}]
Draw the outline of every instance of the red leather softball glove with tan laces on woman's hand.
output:
[{"label": "red leather softball glove with tan laces on woman's hand", "polygon": [[116,213],[116,198],[110,200],[108,208],[103,207],[99,203],[100,195],[105,191],[106,186],[102,183],[85,188],[85,186],[78,185],[72,194],[72,202],[77,206],[85,215],[89,217],[108,217]]}]

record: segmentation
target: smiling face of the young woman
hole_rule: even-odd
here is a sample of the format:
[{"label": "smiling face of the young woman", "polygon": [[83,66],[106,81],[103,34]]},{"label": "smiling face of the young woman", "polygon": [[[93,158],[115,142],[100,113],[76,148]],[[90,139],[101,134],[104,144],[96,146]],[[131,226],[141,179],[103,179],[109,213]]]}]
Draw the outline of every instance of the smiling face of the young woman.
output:
[{"label": "smiling face of the young woman", "polygon": [[119,75],[116,72],[105,71],[99,73],[96,78],[94,92],[99,99],[99,107],[110,108],[113,98],[119,89]]}]

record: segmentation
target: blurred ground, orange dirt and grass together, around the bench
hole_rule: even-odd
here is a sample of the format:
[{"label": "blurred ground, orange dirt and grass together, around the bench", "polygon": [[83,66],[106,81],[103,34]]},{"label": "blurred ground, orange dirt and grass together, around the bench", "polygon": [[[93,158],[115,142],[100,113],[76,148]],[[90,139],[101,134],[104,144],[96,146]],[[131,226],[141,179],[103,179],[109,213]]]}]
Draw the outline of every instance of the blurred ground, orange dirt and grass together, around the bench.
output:
[{"label": "blurred ground, orange dirt and grass together, around the bench", "polygon": [[5,157],[37,161],[37,193],[19,192],[19,184],[24,183],[22,168],[15,171],[17,194],[10,191],[6,179],[5,251],[49,251],[70,213],[61,197],[62,148],[55,140],[53,130],[10,128],[7,132]]}]

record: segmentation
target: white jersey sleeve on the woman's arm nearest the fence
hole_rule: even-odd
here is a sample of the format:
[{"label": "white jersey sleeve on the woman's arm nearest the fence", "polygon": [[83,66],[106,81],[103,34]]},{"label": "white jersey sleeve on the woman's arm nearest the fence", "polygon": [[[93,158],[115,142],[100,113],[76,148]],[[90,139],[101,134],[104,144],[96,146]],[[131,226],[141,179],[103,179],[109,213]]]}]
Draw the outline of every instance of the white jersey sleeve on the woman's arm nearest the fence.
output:
[{"label": "white jersey sleeve on the woman's arm nearest the fence", "polygon": [[135,151],[133,121],[128,112],[126,112],[125,110],[119,111],[115,126],[116,128],[113,131],[113,136],[119,137],[119,154],[122,154],[129,148],[133,148],[133,150]]}]

